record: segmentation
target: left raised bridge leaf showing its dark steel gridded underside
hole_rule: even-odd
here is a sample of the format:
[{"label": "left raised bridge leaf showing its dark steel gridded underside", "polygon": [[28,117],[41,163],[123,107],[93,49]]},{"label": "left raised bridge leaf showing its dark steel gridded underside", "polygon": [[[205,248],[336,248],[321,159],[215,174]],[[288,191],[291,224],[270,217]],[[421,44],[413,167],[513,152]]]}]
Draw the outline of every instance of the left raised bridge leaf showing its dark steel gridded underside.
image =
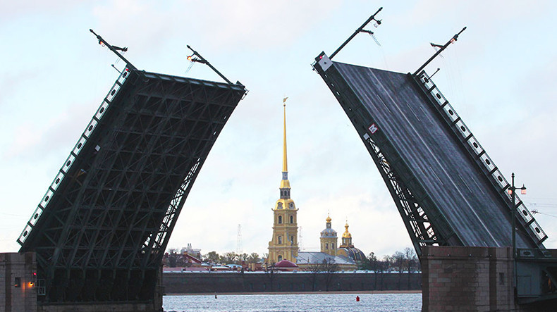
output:
[{"label": "left raised bridge leaf showing its dark steel gridded underside", "polygon": [[246,90],[126,68],[18,238],[43,302],[149,301],[164,250]]}]

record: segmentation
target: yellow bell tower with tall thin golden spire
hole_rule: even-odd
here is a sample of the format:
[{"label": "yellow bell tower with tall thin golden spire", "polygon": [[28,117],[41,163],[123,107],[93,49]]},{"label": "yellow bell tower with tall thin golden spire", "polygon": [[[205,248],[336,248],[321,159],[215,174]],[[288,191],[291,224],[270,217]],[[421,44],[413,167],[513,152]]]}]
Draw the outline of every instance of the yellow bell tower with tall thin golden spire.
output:
[{"label": "yellow bell tower with tall thin golden spire", "polygon": [[280,199],[272,209],[274,214],[273,237],[269,242],[269,257],[267,263],[277,263],[282,260],[295,262],[298,256],[298,221],[294,201],[290,199],[290,181],[288,181],[288,162],[286,160],[286,99],[283,99],[283,165]]}]

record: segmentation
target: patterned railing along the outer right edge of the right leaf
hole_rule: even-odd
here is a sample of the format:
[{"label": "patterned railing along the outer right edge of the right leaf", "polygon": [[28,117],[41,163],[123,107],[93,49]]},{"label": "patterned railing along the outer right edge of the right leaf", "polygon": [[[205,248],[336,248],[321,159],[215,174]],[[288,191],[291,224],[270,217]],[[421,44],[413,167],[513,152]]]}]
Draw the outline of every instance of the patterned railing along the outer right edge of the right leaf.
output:
[{"label": "patterned railing along the outer right edge of the right leaf", "polygon": [[[497,166],[495,166],[495,163],[491,160],[491,158],[489,158],[482,145],[480,145],[478,140],[474,137],[474,135],[472,135],[472,132],[470,132],[470,129],[466,126],[464,121],[460,118],[460,116],[458,116],[453,106],[448,103],[446,97],[443,96],[441,91],[436,87],[434,82],[431,81],[431,78],[424,70],[417,75],[417,78],[417,81],[422,83],[422,86],[436,101],[438,110],[445,114],[448,118],[448,122],[456,130],[456,132],[460,134],[462,141],[470,145],[471,150],[475,153],[473,156],[480,160],[484,168],[489,173],[491,180],[495,182],[495,185],[499,186],[499,191],[506,195],[508,201],[511,201],[512,199],[510,194],[505,192],[506,189],[510,187],[510,184],[507,182],[501,171],[498,170]],[[523,225],[530,228],[531,233],[537,238],[537,244],[544,242],[544,240],[547,239],[546,233],[544,230],[541,230],[541,227],[534,219],[534,216],[532,216],[532,213],[530,213],[528,208],[526,208],[525,204],[516,194],[514,206],[517,210],[516,214],[523,220]]]}]

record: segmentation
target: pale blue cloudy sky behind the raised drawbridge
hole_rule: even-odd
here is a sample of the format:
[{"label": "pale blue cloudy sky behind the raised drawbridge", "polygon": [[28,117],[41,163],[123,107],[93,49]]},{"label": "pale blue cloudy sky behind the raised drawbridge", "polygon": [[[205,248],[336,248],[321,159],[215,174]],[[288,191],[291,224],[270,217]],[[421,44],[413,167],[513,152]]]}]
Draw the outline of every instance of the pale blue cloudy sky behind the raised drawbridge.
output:
[{"label": "pale blue cloudy sky behind the raised drawbridge", "polygon": [[[160,2],[160,3],[158,3]],[[557,46],[554,1],[6,1],[0,0],[0,251],[16,239],[122,68],[97,44],[128,46],[137,68],[222,81],[188,70],[190,44],[250,91],[216,140],[169,247],[257,252],[279,199],[282,99],[288,170],[302,251],[319,249],[330,213],[355,247],[382,256],[411,246],[364,144],[311,63],[383,6],[380,46],[360,34],[335,61],[414,72],[464,26],[426,70],[557,248]],[[238,235],[240,233],[240,235]],[[240,239],[239,239],[240,238]]]}]

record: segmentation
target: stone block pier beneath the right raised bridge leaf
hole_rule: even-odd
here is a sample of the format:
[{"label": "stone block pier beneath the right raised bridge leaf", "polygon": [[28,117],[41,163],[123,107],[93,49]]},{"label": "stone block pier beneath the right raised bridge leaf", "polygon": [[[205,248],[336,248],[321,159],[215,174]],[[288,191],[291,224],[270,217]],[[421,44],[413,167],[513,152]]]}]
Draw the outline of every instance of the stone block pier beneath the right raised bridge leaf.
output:
[{"label": "stone block pier beneath the right raised bridge leaf", "polygon": [[422,311],[540,311],[515,304],[511,247],[423,247]]}]

